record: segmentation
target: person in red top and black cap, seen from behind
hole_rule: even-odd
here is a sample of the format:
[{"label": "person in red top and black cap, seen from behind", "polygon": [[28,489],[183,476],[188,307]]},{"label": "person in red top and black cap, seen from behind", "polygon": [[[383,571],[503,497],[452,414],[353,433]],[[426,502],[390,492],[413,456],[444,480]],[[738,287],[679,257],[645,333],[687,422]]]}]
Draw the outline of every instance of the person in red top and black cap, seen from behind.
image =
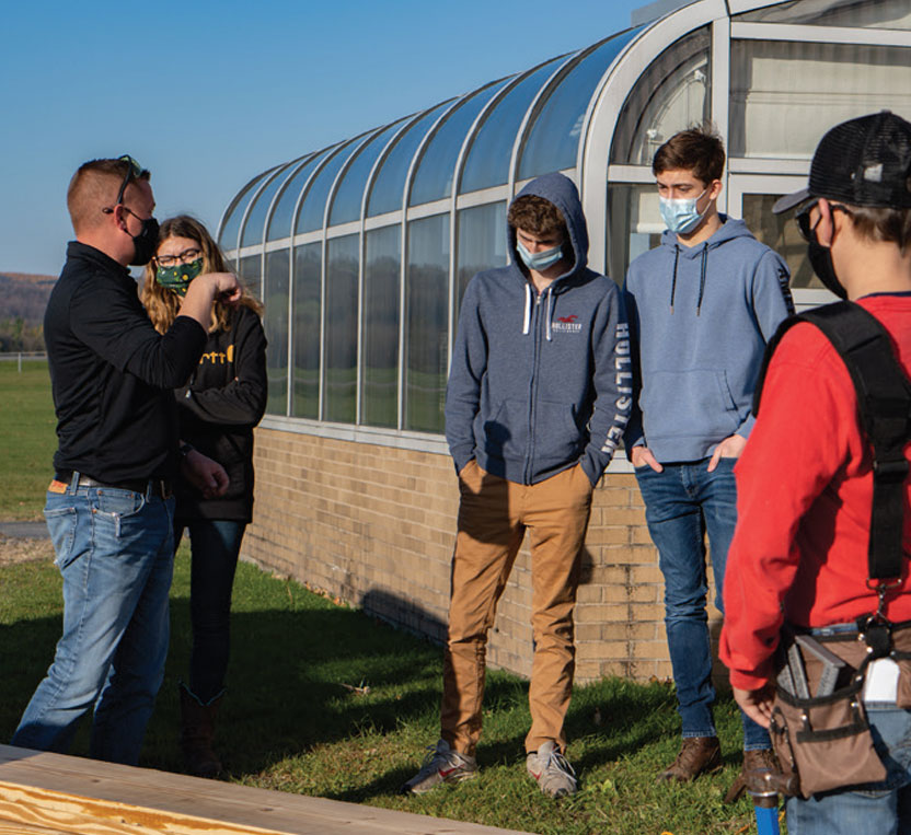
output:
[{"label": "person in red top and black cap, seen from behind", "polygon": [[[794,208],[816,274],[879,320],[911,373],[911,124],[883,112],[832,128],[816,150],[808,188],[774,211]],[[911,459],[908,447],[904,454]],[[857,618],[879,605],[867,584],[873,450],[847,368],[815,326],[797,324],[782,339],[735,472],[738,524],[725,578],[720,658],[737,703],[769,727],[773,656],[785,623],[823,635],[856,633]],[[908,505],[906,478],[906,556]],[[883,613],[892,624],[911,619],[907,566],[886,593]],[[886,782],[788,798],[791,835],[908,831],[911,711],[897,706],[897,687],[893,677],[875,699],[869,687],[864,695]]]}]

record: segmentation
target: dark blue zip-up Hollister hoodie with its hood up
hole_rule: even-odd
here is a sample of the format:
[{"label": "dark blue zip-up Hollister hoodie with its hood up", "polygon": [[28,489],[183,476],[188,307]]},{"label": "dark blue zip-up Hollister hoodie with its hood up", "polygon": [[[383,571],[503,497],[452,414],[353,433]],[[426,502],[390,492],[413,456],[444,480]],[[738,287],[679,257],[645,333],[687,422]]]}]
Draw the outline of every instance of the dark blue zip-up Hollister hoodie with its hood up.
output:
[{"label": "dark blue zip-up Hollister hoodie with its hood up", "polygon": [[446,394],[446,437],[462,469],[537,484],[581,463],[601,477],[632,403],[630,340],[620,291],[586,267],[578,192],[562,174],[529,183],[566,221],[573,266],[538,293],[518,265],[478,272],[462,300]]}]

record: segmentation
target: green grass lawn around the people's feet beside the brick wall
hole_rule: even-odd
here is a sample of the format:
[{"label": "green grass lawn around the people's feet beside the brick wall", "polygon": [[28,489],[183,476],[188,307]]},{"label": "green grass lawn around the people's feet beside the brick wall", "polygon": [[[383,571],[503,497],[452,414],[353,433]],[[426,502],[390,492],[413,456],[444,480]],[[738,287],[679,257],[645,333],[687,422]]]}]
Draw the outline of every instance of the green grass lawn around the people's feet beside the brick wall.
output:
[{"label": "green grass lawn around the people's feet beside the brick wall", "polygon": [[[2,363],[0,384],[0,432],[11,439],[0,478],[15,485],[14,494],[0,494],[0,518],[39,518],[55,449],[46,366],[26,367],[20,376]],[[174,772],[188,608],[182,546],[171,654],[142,761]],[[0,741],[10,739],[53,658],[60,614],[60,579],[50,561],[0,568]],[[580,791],[552,801],[524,772],[527,683],[492,671],[478,777],[406,798],[397,787],[438,735],[439,647],[246,564],[234,588],[232,636],[218,747],[237,782],[553,835],[754,832],[748,800],[722,802],[740,768],[740,721],[729,697],[716,710],[724,770],[690,786],[658,787],[655,774],[679,745],[672,687],[620,679],[577,687],[567,753]],[[83,727],[72,753],[87,750]]]}]

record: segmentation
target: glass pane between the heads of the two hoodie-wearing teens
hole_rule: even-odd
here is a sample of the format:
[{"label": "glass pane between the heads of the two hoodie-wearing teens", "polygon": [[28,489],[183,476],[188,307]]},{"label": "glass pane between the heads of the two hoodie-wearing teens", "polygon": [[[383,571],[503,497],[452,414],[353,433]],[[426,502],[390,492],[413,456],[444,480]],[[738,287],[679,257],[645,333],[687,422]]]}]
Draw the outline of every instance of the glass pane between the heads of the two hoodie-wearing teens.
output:
[{"label": "glass pane between the heads of the two hoodie-wearing teens", "polygon": [[654,185],[608,186],[608,275],[618,285],[633,258],[655,248],[664,231]]}]

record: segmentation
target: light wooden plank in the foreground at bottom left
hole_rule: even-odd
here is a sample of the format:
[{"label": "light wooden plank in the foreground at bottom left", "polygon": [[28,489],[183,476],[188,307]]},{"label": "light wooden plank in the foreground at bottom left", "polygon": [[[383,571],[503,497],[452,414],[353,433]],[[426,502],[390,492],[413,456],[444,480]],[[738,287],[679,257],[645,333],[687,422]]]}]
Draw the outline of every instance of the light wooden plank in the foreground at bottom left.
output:
[{"label": "light wooden plank in the foreground at bottom left", "polygon": [[508,832],[516,835],[494,826],[0,745],[0,835]]}]

